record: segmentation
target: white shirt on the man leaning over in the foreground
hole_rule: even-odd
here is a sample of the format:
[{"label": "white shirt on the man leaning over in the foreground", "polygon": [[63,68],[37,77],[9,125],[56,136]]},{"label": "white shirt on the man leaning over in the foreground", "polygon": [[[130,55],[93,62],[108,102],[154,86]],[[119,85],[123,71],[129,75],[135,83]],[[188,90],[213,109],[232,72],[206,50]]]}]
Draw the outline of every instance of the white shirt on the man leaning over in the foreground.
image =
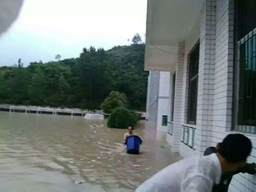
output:
[{"label": "white shirt on the man leaning over in the foreground", "polygon": [[211,192],[220,179],[221,164],[216,154],[193,156],[170,164],[141,184],[136,192]]}]

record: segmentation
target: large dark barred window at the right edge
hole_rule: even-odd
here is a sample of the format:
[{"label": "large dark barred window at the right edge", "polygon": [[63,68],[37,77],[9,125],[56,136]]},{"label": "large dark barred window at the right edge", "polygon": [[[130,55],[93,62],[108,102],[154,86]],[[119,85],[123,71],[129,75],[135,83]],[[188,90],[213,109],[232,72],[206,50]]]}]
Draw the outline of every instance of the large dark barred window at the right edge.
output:
[{"label": "large dark barred window at the right edge", "polygon": [[236,1],[234,126],[256,133],[256,1]]}]

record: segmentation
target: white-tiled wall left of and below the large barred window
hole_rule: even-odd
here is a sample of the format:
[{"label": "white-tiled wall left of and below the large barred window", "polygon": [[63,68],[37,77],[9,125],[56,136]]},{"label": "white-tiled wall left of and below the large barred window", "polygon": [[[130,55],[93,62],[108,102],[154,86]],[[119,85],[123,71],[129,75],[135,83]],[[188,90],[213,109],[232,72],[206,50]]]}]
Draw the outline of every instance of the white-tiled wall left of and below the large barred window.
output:
[{"label": "white-tiled wall left of and below the large barred window", "polygon": [[[214,111],[212,145],[220,142],[232,129],[232,95],[234,81],[234,0],[216,0],[216,56],[214,72]],[[256,163],[256,136],[248,162]],[[256,191],[256,177],[238,174],[233,177],[229,191]]]}]

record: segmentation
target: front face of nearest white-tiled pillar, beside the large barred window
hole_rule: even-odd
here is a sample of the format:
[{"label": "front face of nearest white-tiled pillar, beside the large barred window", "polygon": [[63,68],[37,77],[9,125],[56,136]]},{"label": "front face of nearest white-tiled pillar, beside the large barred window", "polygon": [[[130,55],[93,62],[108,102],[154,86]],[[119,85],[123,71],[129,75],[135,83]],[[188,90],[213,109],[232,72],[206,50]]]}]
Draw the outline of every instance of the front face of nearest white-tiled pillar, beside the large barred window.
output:
[{"label": "front face of nearest white-tiled pillar, beside the large barred window", "polygon": [[220,142],[232,125],[234,3],[218,0],[216,13],[213,144]]}]

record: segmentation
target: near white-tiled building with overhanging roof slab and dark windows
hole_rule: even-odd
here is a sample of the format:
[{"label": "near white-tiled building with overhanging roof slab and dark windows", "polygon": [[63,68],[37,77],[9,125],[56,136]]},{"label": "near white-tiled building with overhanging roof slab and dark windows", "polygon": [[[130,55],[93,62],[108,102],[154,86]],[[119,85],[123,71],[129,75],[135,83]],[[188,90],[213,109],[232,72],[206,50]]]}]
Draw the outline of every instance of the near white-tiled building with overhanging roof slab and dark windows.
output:
[{"label": "near white-tiled building with overhanging roof slab and dark windows", "polygon": [[[170,72],[172,151],[202,154],[242,132],[256,162],[256,1],[148,0],[147,9],[145,70]],[[239,174],[230,191],[256,191],[255,184]]]}]

